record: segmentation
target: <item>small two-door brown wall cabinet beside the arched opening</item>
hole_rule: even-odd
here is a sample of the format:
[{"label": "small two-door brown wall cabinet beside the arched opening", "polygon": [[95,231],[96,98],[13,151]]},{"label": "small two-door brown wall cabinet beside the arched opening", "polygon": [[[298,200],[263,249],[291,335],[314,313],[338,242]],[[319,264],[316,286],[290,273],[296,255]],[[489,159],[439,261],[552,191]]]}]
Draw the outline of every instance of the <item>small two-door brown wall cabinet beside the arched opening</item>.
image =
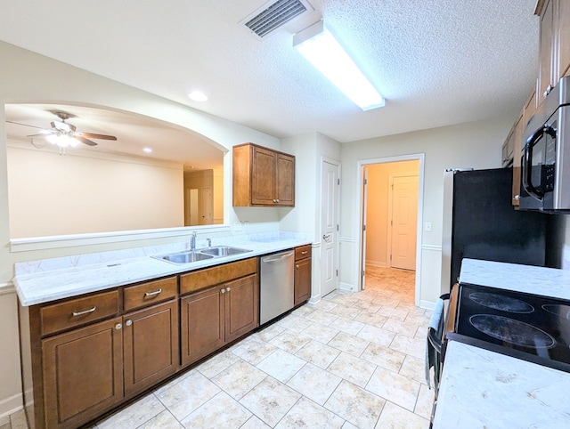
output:
[{"label": "small two-door brown wall cabinet beside the arched opening", "polygon": [[295,206],[295,157],[253,143],[234,146],[233,206]]}]

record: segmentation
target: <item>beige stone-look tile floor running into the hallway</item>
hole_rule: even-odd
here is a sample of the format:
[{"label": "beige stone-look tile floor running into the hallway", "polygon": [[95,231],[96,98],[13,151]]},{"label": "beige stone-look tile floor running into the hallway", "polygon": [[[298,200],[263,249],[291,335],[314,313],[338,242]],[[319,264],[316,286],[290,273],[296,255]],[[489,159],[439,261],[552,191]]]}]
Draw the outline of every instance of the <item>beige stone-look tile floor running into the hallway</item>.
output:
[{"label": "beige stone-look tile floor running into the hallway", "polygon": [[[429,312],[414,272],[367,267],[334,291],[98,422],[108,428],[428,428]],[[0,429],[26,429],[22,412]]]}]

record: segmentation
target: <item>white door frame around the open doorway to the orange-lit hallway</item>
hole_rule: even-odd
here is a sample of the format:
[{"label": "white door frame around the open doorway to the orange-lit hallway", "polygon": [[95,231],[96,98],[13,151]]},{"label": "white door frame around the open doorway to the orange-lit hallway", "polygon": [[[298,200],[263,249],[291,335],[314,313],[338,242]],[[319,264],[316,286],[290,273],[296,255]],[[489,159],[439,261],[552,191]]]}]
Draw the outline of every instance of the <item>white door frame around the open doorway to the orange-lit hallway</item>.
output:
[{"label": "white door frame around the open doorway to the orange-lit hallway", "polygon": [[421,286],[421,242],[422,242],[422,232],[423,228],[423,206],[424,206],[424,179],[425,179],[425,164],[426,164],[426,154],[425,153],[414,153],[410,155],[399,155],[395,157],[384,157],[384,158],[371,158],[371,159],[361,159],[357,162],[356,172],[358,178],[356,180],[357,189],[355,190],[356,204],[354,210],[356,213],[354,218],[359,221],[359,233],[356,236],[356,248],[359,249],[357,255],[355,255],[354,263],[358,269],[356,285],[357,290],[362,290],[362,270],[363,270],[363,257],[365,257],[362,249],[362,228],[364,226],[362,210],[363,210],[363,200],[362,200],[362,187],[363,187],[363,166],[371,166],[373,164],[385,164],[398,161],[419,161],[419,172],[418,172],[418,220],[417,220],[417,234],[416,234],[416,279],[415,279],[415,304],[419,305],[420,296],[420,286]]}]

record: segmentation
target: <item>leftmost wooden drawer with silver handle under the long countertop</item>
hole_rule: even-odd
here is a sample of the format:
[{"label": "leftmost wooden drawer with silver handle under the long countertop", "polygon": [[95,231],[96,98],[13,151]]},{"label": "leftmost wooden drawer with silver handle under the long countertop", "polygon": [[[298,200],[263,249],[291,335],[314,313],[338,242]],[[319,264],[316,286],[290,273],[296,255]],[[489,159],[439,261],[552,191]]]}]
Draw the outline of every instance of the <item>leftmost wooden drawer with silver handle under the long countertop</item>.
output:
[{"label": "leftmost wooden drawer with silver handle under the long countertop", "polygon": [[40,310],[42,336],[118,314],[118,290],[46,305]]}]

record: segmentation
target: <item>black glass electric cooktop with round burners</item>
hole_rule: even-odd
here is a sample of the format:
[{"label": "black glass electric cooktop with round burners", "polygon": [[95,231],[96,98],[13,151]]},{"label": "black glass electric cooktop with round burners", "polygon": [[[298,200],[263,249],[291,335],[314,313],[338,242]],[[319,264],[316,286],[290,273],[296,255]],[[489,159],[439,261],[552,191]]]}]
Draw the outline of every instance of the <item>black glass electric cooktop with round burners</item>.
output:
[{"label": "black glass electric cooktop with round burners", "polygon": [[459,285],[455,333],[447,339],[570,372],[570,301]]}]

